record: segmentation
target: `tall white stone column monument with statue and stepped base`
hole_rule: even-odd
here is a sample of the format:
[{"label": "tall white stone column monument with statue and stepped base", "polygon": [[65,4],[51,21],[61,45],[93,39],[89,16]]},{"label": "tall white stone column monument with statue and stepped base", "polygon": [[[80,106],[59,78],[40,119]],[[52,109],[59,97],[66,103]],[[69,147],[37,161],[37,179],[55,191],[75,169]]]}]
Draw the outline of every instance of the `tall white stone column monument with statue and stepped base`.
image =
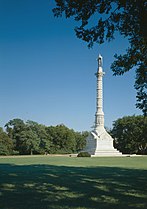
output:
[{"label": "tall white stone column monument with statue and stepped base", "polygon": [[96,92],[96,113],[94,130],[87,137],[86,148],[84,151],[93,156],[118,156],[122,155],[113,147],[113,138],[108,134],[104,127],[103,112],[103,58],[98,56],[97,92]]}]

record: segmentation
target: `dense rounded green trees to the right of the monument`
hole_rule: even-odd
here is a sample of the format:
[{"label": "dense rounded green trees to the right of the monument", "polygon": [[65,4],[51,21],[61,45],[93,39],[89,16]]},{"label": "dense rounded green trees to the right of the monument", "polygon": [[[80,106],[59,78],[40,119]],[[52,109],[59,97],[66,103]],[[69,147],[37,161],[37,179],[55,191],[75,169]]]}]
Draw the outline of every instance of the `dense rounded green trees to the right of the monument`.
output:
[{"label": "dense rounded green trees to the right of the monument", "polygon": [[147,117],[120,118],[114,122],[111,134],[114,146],[122,153],[147,154]]}]

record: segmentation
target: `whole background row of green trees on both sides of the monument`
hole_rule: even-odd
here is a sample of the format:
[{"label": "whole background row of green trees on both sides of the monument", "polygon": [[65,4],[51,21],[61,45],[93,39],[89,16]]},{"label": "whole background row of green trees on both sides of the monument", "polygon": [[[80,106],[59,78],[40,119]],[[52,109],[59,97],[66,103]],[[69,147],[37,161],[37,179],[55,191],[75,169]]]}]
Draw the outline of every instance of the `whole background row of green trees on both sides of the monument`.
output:
[{"label": "whole background row of green trees on both sides of the monument", "polygon": [[[88,132],[65,125],[45,126],[34,121],[10,120],[0,128],[0,155],[77,153],[86,145]],[[113,123],[110,134],[122,153],[147,154],[147,117],[126,116]]]}]

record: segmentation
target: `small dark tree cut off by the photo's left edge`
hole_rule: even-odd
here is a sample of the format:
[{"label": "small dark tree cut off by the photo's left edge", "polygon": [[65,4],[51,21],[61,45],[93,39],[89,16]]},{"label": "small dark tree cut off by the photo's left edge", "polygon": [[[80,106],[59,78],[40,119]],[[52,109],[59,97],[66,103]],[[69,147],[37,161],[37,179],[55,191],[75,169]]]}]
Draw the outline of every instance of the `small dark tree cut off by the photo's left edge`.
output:
[{"label": "small dark tree cut off by the photo's left edge", "polygon": [[0,128],[0,155],[12,154],[13,143],[8,135]]}]

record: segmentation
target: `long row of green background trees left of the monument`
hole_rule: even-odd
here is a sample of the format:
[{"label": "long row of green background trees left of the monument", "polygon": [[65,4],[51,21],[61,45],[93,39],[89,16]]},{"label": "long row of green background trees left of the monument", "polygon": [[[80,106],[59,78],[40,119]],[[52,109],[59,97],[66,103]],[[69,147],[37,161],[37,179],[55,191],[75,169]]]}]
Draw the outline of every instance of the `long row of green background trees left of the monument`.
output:
[{"label": "long row of green background trees left of the monument", "polygon": [[65,125],[45,126],[34,121],[10,120],[0,128],[0,155],[77,153],[88,132],[75,132]]}]

